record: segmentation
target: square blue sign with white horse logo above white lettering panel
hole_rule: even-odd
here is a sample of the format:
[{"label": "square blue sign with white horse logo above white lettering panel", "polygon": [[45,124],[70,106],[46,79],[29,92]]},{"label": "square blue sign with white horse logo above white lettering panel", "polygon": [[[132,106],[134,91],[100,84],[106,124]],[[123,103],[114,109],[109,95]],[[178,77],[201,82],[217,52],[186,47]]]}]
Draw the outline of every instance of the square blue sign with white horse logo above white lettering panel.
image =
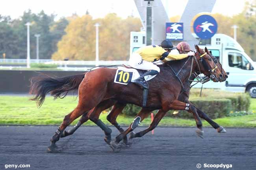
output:
[{"label": "square blue sign with white horse logo above white lettering panel", "polygon": [[183,23],[167,22],[165,26],[167,40],[183,40]]}]

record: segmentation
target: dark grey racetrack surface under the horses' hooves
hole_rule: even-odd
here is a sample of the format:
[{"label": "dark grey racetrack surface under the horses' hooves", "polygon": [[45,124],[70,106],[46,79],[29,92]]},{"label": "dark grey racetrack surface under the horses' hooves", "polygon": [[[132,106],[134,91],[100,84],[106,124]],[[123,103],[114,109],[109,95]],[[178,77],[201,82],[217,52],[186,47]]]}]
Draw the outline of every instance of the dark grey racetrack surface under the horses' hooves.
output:
[{"label": "dark grey racetrack surface under the horses' hooves", "polygon": [[[256,129],[226,128],[227,133],[217,133],[204,128],[201,139],[196,128],[158,127],[154,135],[132,139],[129,148],[114,153],[100,128],[83,126],[58,141],[59,152],[47,153],[56,129],[0,126],[0,170],[7,164],[30,164],[30,168],[17,168],[22,170],[196,170],[198,163],[200,169],[208,170],[216,168],[203,168],[204,164],[232,164],[231,170],[256,169]],[[118,132],[111,129],[113,138]]]}]

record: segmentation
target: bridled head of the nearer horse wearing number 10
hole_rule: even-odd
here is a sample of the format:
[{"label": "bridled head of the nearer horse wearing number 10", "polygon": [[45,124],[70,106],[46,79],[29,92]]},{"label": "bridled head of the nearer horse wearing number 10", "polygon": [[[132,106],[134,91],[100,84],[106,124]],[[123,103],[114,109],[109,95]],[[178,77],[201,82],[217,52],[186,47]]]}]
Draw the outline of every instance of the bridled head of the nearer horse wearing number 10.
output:
[{"label": "bridled head of the nearer horse wearing number 10", "polygon": [[220,80],[221,71],[216,66],[214,60],[206,53],[203,49],[195,45],[196,60],[198,61],[200,72],[210,77],[213,82],[218,82]]}]

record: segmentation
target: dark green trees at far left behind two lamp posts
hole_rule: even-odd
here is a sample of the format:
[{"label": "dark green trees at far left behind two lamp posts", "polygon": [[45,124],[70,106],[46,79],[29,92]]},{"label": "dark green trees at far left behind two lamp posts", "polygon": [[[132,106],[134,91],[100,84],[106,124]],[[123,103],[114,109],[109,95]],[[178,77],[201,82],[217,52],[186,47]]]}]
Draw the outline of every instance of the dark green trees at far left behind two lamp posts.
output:
[{"label": "dark green trees at far left behind two lamp posts", "polygon": [[11,20],[9,16],[0,16],[0,53],[5,51],[6,58],[26,58],[27,55],[27,27],[25,24],[31,22],[30,26],[30,54],[36,58],[35,34],[40,34],[39,53],[40,58],[51,58],[56,51],[56,44],[65,34],[64,29],[68,24],[65,18],[54,22],[55,15],[46,15],[44,11],[38,14],[29,9],[24,11],[20,18]]}]

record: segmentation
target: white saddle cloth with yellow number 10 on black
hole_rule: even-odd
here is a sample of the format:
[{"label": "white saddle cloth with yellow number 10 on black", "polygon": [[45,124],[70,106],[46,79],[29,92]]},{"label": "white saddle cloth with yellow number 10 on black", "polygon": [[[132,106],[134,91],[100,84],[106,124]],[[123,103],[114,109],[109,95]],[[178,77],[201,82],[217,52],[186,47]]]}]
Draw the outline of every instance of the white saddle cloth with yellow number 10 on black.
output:
[{"label": "white saddle cloth with yellow number 10 on black", "polygon": [[[124,84],[127,85],[130,82],[134,82],[135,79],[139,78],[143,73],[145,73],[145,70],[137,70],[134,68],[125,68],[125,67],[117,67],[117,72],[115,73],[115,79],[114,82],[118,84]],[[145,76],[145,80],[149,81],[156,77],[156,75],[151,76],[147,75]]]}]

